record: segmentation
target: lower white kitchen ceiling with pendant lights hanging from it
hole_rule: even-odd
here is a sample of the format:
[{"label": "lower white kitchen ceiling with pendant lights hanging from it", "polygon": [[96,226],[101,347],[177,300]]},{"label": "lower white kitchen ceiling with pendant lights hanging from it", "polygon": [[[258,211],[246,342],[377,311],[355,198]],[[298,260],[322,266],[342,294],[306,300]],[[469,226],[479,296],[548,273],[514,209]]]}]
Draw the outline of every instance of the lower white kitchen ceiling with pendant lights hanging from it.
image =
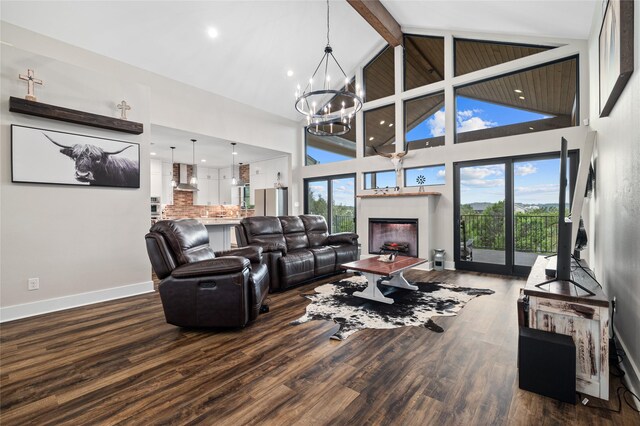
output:
[{"label": "lower white kitchen ceiling with pendant lights hanging from it", "polygon": [[[231,166],[233,156],[231,141],[158,125],[151,125],[150,151],[156,154],[151,158],[171,161],[171,147],[175,146],[174,162],[192,164],[193,144],[191,139],[196,139],[196,164],[213,168]],[[241,143],[236,144],[236,152],[238,154],[233,160],[235,164],[253,163],[287,155],[281,151]],[[203,159],[207,161],[202,162]]]}]

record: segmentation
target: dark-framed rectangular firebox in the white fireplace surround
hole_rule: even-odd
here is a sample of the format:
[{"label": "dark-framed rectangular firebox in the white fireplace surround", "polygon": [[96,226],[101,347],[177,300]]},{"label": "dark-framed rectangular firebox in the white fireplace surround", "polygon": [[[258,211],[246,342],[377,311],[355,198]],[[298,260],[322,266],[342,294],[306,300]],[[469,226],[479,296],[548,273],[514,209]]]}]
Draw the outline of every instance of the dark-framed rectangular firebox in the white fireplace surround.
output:
[{"label": "dark-framed rectangular firebox in the white fireplace surround", "polygon": [[418,257],[418,219],[369,219],[369,253]]}]

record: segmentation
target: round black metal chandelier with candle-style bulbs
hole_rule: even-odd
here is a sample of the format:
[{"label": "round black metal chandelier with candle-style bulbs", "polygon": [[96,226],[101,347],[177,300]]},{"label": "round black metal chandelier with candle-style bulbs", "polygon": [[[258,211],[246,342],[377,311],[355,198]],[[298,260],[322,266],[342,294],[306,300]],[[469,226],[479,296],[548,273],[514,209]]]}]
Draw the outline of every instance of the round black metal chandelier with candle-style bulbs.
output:
[{"label": "round black metal chandelier with candle-style bulbs", "polygon": [[[324,68],[324,75],[320,71],[321,68]],[[332,70],[339,71],[339,78],[344,78],[344,85],[340,84],[338,89],[332,89],[331,86]],[[316,77],[318,71],[322,79]],[[342,74],[341,77],[340,74]],[[316,90],[313,90],[314,85]],[[324,48],[324,55],[304,91],[300,90],[298,85],[296,110],[307,118],[307,132],[312,135],[339,136],[348,133],[351,130],[351,120],[362,109],[362,90],[359,90],[359,87],[352,90],[349,78],[333,56],[333,49],[329,43],[329,0],[327,0],[327,45]]]}]

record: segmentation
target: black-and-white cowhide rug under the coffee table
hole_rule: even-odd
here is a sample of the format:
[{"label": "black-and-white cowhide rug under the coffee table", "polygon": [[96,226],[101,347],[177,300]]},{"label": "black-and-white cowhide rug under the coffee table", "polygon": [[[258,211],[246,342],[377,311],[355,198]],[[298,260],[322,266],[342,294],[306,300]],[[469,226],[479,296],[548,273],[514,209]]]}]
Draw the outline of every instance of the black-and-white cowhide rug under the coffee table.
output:
[{"label": "black-and-white cowhide rug under the coffee table", "polygon": [[307,313],[291,324],[302,324],[311,320],[333,320],[340,329],[331,336],[344,340],[365,328],[397,328],[423,326],[441,333],[441,327],[431,321],[433,316],[452,316],[471,299],[493,290],[458,287],[438,282],[415,282],[418,290],[404,290],[378,285],[380,290],[394,300],[392,305],[374,302],[353,296],[354,291],[366,287],[364,276],[353,276],[332,284],[316,287],[314,294],[303,297],[311,300]]}]

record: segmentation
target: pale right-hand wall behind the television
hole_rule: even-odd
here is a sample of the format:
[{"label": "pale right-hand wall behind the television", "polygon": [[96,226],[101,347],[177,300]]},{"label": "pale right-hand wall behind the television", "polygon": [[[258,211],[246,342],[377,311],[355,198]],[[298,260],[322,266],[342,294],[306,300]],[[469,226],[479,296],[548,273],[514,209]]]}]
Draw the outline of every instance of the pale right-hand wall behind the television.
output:
[{"label": "pale right-hand wall behind the television", "polygon": [[[614,326],[625,347],[636,390],[640,376],[640,4],[635,2],[634,73],[609,117],[599,118],[596,8],[589,38],[591,127],[598,132],[591,203],[591,265],[610,299],[616,297]],[[629,371],[628,371],[629,372]]]}]

